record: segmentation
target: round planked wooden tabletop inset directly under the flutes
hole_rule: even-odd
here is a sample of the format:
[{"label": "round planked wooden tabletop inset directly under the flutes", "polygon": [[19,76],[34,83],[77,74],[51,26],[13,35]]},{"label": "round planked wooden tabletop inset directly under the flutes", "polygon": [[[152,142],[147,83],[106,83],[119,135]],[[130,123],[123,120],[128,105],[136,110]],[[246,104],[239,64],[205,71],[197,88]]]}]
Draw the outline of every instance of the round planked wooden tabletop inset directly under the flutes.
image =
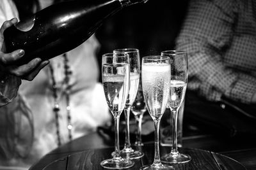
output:
[{"label": "round planked wooden tabletop inset directly under the flutes", "polygon": [[[163,151],[169,150],[166,147],[162,148]],[[152,157],[154,157],[154,145],[147,145],[143,147],[145,152],[144,157],[134,160],[134,166],[127,170],[137,170],[141,167],[152,164]],[[108,159],[113,152],[113,148],[86,150],[83,152],[73,153],[62,159],[58,159],[48,166],[44,167],[44,170],[51,169],[104,169],[100,166],[100,162],[104,159]],[[178,169],[234,169],[244,170],[246,169],[242,164],[230,159],[226,156],[220,155],[214,152],[207,152],[204,150],[192,149],[192,148],[180,148],[180,152],[187,153],[191,156],[192,160],[186,164],[173,164],[172,167]],[[164,153],[164,152],[163,152]]]}]

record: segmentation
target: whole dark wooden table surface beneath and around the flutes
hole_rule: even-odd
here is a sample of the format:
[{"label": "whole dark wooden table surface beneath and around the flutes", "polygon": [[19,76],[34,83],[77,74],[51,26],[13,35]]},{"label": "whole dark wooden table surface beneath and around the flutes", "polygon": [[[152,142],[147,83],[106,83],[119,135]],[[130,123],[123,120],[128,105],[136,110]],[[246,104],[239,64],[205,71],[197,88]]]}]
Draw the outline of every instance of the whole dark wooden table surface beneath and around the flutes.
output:
[{"label": "whole dark wooden table surface beneath and around the flutes", "polygon": [[[176,169],[244,169],[244,167],[256,169],[256,148],[248,148],[251,146],[244,145],[243,140],[239,143],[232,139],[228,141],[223,137],[202,135],[185,137],[183,141],[184,148],[180,148],[180,152],[188,153],[193,160],[188,164],[176,166]],[[145,143],[143,148],[145,156],[135,160],[135,166],[130,169],[140,169],[141,166],[152,163],[154,159],[153,144],[152,141]],[[205,151],[207,148],[212,152]],[[218,153],[215,153],[216,151]],[[30,170],[68,169],[68,166],[71,166],[73,170],[76,170],[75,167],[102,169],[99,162],[109,159],[111,152],[113,152],[113,139],[108,135],[93,133],[45,155]],[[170,147],[161,146],[161,155],[168,152],[170,152]]]}]

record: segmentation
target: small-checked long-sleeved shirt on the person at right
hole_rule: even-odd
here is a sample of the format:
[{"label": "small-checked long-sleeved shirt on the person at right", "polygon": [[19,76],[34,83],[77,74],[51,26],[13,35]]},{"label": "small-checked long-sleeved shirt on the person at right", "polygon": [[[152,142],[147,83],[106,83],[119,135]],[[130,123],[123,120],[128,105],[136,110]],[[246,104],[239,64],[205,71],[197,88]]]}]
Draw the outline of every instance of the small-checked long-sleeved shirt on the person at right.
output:
[{"label": "small-checked long-sleeved shirt on the person at right", "polygon": [[188,52],[188,89],[210,101],[252,103],[256,93],[256,1],[191,0],[176,49]]}]

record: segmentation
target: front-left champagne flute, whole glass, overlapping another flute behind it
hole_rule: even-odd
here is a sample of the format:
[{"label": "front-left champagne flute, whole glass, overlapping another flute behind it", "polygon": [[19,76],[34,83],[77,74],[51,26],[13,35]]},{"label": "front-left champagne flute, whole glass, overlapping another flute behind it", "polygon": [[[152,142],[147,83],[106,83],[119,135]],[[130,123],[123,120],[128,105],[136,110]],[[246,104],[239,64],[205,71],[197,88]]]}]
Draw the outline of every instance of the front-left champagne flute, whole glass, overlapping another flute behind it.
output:
[{"label": "front-left champagne flute, whole glass, overlapping another flute behind it", "polygon": [[129,91],[129,69],[129,55],[126,53],[106,53],[102,56],[104,94],[115,123],[113,158],[100,162],[102,167],[108,169],[125,169],[134,166],[132,160],[120,156],[119,146],[119,120]]}]

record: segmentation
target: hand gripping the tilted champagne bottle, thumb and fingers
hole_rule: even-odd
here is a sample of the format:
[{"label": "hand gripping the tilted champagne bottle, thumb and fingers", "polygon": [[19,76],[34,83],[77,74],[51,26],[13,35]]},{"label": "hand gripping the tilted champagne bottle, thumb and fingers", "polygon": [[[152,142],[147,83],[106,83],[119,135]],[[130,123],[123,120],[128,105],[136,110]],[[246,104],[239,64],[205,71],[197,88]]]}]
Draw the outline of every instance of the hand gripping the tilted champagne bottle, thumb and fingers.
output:
[{"label": "hand gripping the tilted champagne bottle, thumb and fingers", "polygon": [[42,61],[40,58],[35,58],[21,66],[16,66],[16,64],[14,64],[24,56],[25,52],[22,49],[18,49],[13,52],[6,53],[3,32],[15,23],[17,23],[17,18],[7,20],[0,29],[0,71],[2,73],[13,74],[24,80],[31,81],[43,67],[49,64],[49,61]]}]

